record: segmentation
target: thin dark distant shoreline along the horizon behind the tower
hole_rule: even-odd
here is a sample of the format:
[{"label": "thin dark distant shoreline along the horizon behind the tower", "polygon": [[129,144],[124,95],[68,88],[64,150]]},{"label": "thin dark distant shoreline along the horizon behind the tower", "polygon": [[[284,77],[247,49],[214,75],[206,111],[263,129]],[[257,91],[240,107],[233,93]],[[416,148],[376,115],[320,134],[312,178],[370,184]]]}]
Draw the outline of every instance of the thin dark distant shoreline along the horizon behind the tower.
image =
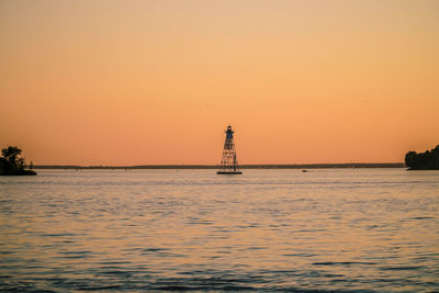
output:
[{"label": "thin dark distant shoreline along the horizon behind the tower", "polygon": [[[333,169],[333,168],[405,168],[404,162],[346,162],[303,165],[241,165],[240,169]],[[217,165],[139,165],[139,166],[72,166],[37,165],[34,169],[218,169]]]}]

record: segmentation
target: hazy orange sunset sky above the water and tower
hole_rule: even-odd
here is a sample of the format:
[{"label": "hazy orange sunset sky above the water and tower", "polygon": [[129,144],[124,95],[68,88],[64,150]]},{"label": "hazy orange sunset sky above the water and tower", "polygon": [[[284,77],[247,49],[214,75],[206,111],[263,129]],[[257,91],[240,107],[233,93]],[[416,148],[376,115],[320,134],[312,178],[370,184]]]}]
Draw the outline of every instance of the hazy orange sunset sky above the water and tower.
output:
[{"label": "hazy orange sunset sky above the water and tower", "polygon": [[398,162],[439,144],[438,1],[0,0],[34,165]]}]

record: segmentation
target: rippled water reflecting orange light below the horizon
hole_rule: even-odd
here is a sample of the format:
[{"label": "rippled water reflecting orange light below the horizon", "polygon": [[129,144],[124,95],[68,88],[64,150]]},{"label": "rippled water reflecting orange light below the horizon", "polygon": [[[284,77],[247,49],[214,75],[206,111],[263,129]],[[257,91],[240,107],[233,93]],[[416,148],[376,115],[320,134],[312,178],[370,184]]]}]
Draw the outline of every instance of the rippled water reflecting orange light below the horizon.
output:
[{"label": "rippled water reflecting orange light below the horizon", "polygon": [[2,292],[438,292],[439,171],[0,177]]}]

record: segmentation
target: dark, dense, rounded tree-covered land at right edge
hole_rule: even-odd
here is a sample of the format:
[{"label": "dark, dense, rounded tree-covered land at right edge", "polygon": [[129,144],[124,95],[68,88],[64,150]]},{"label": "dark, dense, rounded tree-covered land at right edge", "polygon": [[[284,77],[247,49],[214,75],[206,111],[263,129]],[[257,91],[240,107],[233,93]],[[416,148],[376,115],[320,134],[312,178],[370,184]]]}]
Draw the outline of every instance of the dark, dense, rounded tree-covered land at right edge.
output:
[{"label": "dark, dense, rounded tree-covered land at right edge", "polygon": [[405,165],[408,170],[439,170],[439,145],[425,153],[408,151]]}]

